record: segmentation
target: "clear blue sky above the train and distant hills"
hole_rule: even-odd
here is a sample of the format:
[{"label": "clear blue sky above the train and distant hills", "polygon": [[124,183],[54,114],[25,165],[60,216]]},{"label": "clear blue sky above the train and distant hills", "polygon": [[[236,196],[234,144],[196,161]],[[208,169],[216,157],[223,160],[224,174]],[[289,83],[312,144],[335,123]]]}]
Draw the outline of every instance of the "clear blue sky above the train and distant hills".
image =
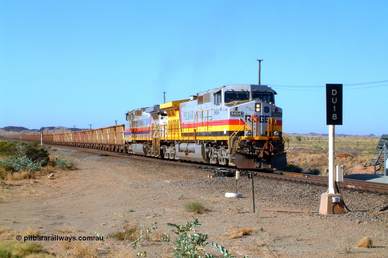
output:
[{"label": "clear blue sky above the train and distant hills", "polygon": [[1,0],[0,127],[125,123],[163,91],[257,84],[257,58],[284,132],[327,133],[325,88],[300,86],[342,83],[336,133],[388,133],[388,82],[360,84],[388,81],[386,0]]}]

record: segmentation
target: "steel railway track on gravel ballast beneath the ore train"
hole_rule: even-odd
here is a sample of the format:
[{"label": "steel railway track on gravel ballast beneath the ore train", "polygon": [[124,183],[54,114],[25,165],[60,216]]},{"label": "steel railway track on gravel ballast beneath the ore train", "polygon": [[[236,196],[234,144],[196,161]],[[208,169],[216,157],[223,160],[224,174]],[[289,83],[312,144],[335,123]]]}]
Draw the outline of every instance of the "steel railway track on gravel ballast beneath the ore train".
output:
[{"label": "steel railway track on gravel ballast beneath the ore train", "polygon": [[[44,145],[57,146],[57,145],[50,145],[50,144],[44,144]],[[85,149],[85,148],[78,148],[78,147],[68,147],[68,146],[60,146],[60,147],[72,149],[72,150],[85,151],[89,153],[96,153],[96,154],[106,153],[109,156],[136,158],[140,160],[149,160],[149,161],[152,160],[155,162],[171,164],[171,161],[169,160],[160,160],[157,158],[142,157],[137,155],[126,155],[126,154],[121,154],[121,153],[116,153],[111,151],[101,151],[101,150]],[[187,166],[206,168],[207,170],[212,170],[214,172],[220,169],[223,171],[229,171],[229,172],[234,172],[236,170],[236,169],[230,169],[230,168],[217,167],[211,164],[198,164],[198,163],[189,163],[189,162],[179,162],[179,163]],[[247,175],[249,172],[252,172],[252,171],[244,171],[242,175]],[[323,175],[299,174],[299,173],[284,172],[284,171],[275,171],[274,173],[264,173],[264,172],[253,171],[253,174],[255,176],[274,178],[279,180],[303,182],[303,183],[316,184],[316,185],[328,185],[328,177]],[[351,191],[388,194],[388,184],[379,183],[379,182],[362,181],[362,180],[355,180],[355,179],[343,179],[343,182],[340,182],[340,187],[341,189],[346,189]]]}]

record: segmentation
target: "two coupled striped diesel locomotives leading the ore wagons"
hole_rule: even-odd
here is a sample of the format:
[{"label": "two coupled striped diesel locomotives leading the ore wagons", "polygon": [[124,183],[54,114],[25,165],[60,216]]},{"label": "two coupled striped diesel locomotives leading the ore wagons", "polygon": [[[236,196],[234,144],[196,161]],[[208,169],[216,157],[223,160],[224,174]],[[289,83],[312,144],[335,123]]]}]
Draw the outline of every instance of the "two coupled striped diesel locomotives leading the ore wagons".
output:
[{"label": "two coupled striped diesel locomotives leading the ore wagons", "polygon": [[170,160],[281,169],[282,109],[265,85],[231,84],[126,113],[128,153]]}]

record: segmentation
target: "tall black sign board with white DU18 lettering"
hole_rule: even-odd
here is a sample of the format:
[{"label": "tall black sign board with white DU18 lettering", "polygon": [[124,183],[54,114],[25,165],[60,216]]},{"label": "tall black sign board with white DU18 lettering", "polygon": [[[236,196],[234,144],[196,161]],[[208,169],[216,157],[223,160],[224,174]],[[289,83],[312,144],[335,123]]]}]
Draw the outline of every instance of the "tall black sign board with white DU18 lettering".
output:
[{"label": "tall black sign board with white DU18 lettering", "polygon": [[342,125],[342,84],[326,84],[326,124]]}]

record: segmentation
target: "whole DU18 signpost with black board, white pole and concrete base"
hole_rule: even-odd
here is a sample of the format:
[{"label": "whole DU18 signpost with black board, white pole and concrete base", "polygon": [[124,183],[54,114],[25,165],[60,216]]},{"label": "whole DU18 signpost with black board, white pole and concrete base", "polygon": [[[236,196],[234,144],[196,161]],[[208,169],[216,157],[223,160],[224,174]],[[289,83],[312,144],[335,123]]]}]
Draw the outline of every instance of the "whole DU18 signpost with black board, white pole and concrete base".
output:
[{"label": "whole DU18 signpost with black board, white pole and concrete base", "polygon": [[336,189],[335,126],[342,125],[342,84],[326,84],[326,124],[329,126],[329,189],[322,194],[320,214],[343,213],[343,198]]}]

